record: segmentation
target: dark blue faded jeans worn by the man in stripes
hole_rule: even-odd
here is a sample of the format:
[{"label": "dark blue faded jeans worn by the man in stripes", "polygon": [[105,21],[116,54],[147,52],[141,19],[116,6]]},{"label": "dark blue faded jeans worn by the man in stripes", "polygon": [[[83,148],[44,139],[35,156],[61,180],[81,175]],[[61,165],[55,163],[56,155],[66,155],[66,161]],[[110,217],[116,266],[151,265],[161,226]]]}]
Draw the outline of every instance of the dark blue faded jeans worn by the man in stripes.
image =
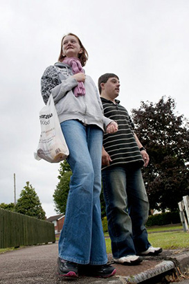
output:
[{"label": "dark blue faded jeans worn by the man in stripes", "polygon": [[150,247],[145,222],[149,203],[140,168],[109,166],[102,170],[109,236],[114,258]]}]

